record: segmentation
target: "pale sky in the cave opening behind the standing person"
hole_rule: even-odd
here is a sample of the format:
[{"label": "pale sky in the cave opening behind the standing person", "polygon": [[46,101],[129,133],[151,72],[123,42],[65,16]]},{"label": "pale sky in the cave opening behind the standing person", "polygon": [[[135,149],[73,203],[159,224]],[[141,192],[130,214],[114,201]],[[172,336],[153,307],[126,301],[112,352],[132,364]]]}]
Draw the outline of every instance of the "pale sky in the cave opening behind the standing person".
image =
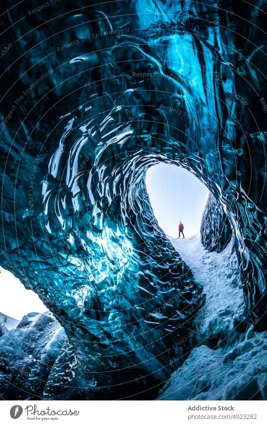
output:
[{"label": "pale sky in the cave opening behind the standing person", "polygon": [[192,173],[164,162],[150,167],[146,187],[159,226],[172,237],[178,237],[178,225],[184,225],[184,237],[200,230],[208,189]]}]

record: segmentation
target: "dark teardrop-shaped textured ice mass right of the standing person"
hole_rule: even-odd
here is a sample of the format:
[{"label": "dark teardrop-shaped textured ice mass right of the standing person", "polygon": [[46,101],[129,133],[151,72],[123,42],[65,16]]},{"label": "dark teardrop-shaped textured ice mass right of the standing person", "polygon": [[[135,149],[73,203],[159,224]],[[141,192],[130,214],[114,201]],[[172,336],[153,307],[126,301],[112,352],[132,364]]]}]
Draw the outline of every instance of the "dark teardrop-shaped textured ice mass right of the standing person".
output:
[{"label": "dark teardrop-shaped textured ice mass right of the standing person", "polygon": [[232,238],[229,220],[211,193],[202,214],[200,235],[202,245],[209,252],[221,252]]}]

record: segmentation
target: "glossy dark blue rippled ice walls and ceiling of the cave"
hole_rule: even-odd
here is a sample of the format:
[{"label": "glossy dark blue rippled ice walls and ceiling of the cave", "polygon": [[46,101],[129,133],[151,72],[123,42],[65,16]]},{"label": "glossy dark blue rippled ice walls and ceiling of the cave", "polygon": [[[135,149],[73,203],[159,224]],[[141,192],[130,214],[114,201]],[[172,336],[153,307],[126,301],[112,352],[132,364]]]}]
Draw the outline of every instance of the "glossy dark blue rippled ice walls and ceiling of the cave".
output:
[{"label": "glossy dark blue rippled ice walls and ceiling of the cave", "polygon": [[[40,330],[53,342],[49,376],[40,360],[43,384],[18,393],[3,360],[5,398],[151,399],[183,363],[187,344],[175,342],[205,292],[149,202],[146,172],[162,162],[212,194],[233,235],[246,324],[265,329],[256,3],[244,19],[233,1],[1,6],[0,264],[54,315],[35,318],[53,327]],[[220,251],[213,232],[202,242]]]}]

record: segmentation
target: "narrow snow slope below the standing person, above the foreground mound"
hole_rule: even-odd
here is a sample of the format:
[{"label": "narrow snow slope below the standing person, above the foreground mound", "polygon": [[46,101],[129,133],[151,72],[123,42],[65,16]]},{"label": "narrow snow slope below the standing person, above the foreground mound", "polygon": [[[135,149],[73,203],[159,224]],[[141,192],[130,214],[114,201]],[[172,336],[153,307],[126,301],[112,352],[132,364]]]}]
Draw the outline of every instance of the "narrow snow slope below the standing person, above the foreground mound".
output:
[{"label": "narrow snow slope below the standing person, above the foreground mound", "polygon": [[232,253],[232,243],[217,254],[203,248],[200,235],[169,239],[192,270],[195,280],[203,285],[206,295],[204,307],[195,320],[198,337],[210,334],[210,338],[214,338],[216,331],[222,332],[224,327],[229,337],[229,325],[233,316],[239,317],[236,320],[244,319],[243,292],[236,256]]}]

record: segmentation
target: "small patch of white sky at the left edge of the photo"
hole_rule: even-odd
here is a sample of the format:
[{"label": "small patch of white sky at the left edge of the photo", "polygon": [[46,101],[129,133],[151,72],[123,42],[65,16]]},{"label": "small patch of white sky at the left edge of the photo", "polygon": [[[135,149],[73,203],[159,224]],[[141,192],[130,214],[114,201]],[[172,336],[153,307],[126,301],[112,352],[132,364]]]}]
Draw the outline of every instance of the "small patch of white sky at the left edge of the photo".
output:
[{"label": "small patch of white sky at the left edge of the photo", "polygon": [[0,267],[0,311],[14,319],[21,320],[25,314],[47,311],[39,296],[25,289],[24,285],[10,271]]}]

